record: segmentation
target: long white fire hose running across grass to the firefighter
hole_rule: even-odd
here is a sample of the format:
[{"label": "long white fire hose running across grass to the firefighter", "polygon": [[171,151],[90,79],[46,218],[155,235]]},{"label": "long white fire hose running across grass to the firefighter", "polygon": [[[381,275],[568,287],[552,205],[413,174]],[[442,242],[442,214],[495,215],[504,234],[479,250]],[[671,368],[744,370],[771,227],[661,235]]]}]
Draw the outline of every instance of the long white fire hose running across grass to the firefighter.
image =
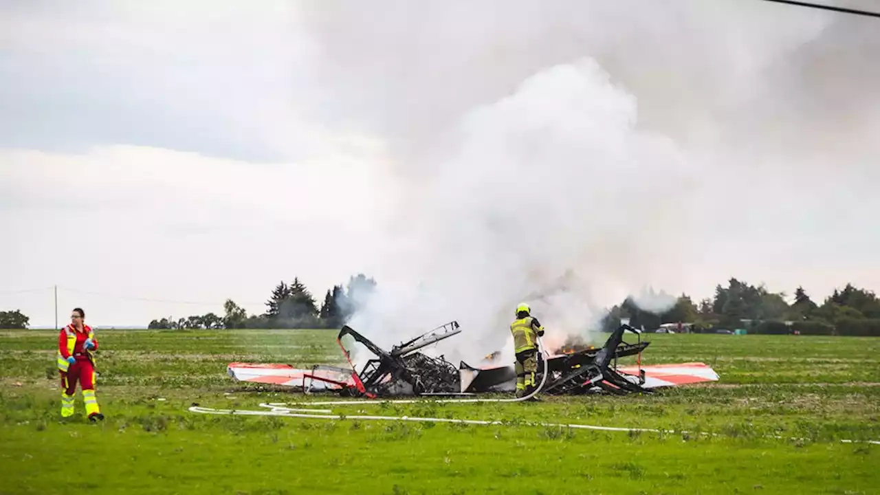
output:
[{"label": "long white fire hose running across grass to the firefighter", "polygon": [[[537,339],[539,352],[543,353],[546,357],[546,351],[544,350],[543,345],[541,344],[541,339],[538,337]],[[235,410],[235,409],[213,409],[206,408],[202,406],[194,405],[189,408],[190,412],[200,413],[200,414],[216,414],[216,415],[236,415],[236,416],[275,416],[275,417],[301,417],[306,419],[332,419],[332,420],[343,420],[343,419],[355,419],[362,421],[414,421],[414,422],[427,422],[427,423],[456,423],[460,425],[513,425],[508,421],[488,421],[488,420],[480,420],[480,419],[454,419],[448,417],[409,417],[409,416],[372,416],[372,415],[349,415],[349,414],[333,414],[333,410],[329,409],[314,409],[312,406],[330,406],[330,405],[338,405],[338,406],[348,406],[348,405],[382,405],[382,404],[414,404],[414,403],[520,403],[523,401],[527,401],[538,395],[547,380],[547,360],[544,361],[544,373],[541,377],[541,383],[538,387],[532,390],[531,394],[524,395],[522,397],[514,397],[510,399],[399,399],[399,400],[375,400],[375,399],[363,399],[363,400],[354,400],[354,401],[323,401],[323,402],[310,402],[310,403],[260,403],[260,407],[264,408],[263,410]],[[300,406],[300,407],[289,407],[289,406]],[[522,423],[517,422],[517,425],[521,425]],[[649,432],[649,433],[667,433],[667,434],[688,434],[686,431],[675,431],[675,430],[660,430],[655,428],[626,428],[626,427],[618,427],[618,426],[601,426],[601,425],[578,425],[578,424],[563,424],[563,423],[529,423],[526,422],[527,425],[532,426],[544,426],[549,428],[570,428],[575,430],[595,430],[601,432]],[[705,436],[722,436],[718,433],[708,433],[708,432],[700,432],[701,435]],[[779,435],[772,435],[768,438],[775,438],[779,440],[786,440],[786,437],[782,437]],[[805,439],[797,439],[790,438],[788,440],[805,440]],[[841,443],[869,443],[880,445],[880,441],[876,440],[840,440]]]}]

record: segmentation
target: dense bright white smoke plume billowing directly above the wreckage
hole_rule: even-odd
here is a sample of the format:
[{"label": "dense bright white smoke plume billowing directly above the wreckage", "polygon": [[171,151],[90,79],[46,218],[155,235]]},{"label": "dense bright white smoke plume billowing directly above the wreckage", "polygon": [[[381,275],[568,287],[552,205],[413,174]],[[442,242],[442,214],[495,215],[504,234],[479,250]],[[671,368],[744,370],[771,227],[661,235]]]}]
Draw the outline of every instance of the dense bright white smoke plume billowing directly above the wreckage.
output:
[{"label": "dense bright white smoke plume billowing directly above the wreckage", "polygon": [[591,292],[638,287],[640,260],[658,252],[621,229],[650,238],[662,218],[686,215],[676,202],[646,212],[629,201],[687,187],[690,176],[674,145],[636,121],[632,95],[591,59],[474,108],[452,141],[457,153],[409,195],[410,248],[393,257],[404,284],[380,283],[353,325],[386,340],[454,318],[465,347],[485,355],[510,340],[522,299],[556,340],[587,331],[605,299]]}]

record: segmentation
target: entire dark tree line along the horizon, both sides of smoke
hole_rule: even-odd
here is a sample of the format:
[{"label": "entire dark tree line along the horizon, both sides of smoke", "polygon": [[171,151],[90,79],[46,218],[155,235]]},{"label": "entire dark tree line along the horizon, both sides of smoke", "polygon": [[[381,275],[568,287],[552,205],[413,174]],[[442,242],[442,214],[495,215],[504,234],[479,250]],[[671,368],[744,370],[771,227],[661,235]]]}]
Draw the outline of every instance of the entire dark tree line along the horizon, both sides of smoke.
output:
[{"label": "entire dark tree line along the horizon, both sides of smoke", "polygon": [[[349,277],[348,284],[334,285],[318,301],[294,277],[275,285],[261,314],[247,314],[235,301],[224,302],[223,314],[166,317],[150,321],[150,329],[316,329],[340,328],[365,304],[376,289],[376,280],[363,274]],[[718,329],[747,329],[750,333],[801,333],[804,335],[880,336],[880,299],[875,292],[847,284],[835,289],[821,304],[797,287],[793,301],[785,292],[770,292],[763,284],[753,285],[730,278],[715,286],[711,298],[694,301],[687,294],[673,297],[664,292],[644,294],[649,299],[668,299],[663,311],[650,311],[628,297],[607,308],[602,329],[620,326],[624,318],[636,328],[653,330],[664,323],[681,323],[693,332]],[[29,319],[21,311],[0,312],[0,329],[26,329]]]}]

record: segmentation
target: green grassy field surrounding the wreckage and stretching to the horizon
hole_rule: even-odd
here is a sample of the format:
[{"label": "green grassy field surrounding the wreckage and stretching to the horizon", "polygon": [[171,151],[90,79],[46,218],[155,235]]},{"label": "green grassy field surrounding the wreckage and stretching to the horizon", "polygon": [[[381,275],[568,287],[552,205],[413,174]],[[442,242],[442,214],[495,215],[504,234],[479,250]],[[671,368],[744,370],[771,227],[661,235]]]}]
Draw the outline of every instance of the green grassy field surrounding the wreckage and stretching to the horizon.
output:
[{"label": "green grassy field surrounding the wreckage and stretching to the horizon", "polygon": [[880,492],[880,446],[840,442],[880,440],[878,338],[651,335],[646,364],[703,361],[721,381],[650,396],[334,408],[688,432],[630,434],[187,411],[304,400],[235,383],[225,366],[339,362],[326,330],[104,331],[106,421],[81,417],[78,392],[77,417],[62,421],[55,335],[0,331],[0,493]]}]

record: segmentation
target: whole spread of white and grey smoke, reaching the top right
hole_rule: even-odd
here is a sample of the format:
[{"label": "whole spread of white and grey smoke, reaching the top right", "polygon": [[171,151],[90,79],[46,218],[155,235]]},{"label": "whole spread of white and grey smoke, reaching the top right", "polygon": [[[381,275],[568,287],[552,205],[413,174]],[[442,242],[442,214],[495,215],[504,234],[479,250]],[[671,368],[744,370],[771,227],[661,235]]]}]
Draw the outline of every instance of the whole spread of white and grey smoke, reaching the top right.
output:
[{"label": "whole spread of white and grey smoke, reaching the top right", "polygon": [[[852,81],[854,63],[820,57],[823,40],[869,57],[880,36],[862,19],[701,0],[308,9],[321,112],[389,144],[400,187],[376,191],[399,208],[361,244],[378,293],[350,322],[385,347],[456,319],[447,357],[512,356],[520,301],[561,344],[646,285],[722,281],[796,246],[774,229],[822,205],[793,171],[804,186],[848,177],[825,191],[839,199],[876,174],[839,160],[878,155],[862,131],[876,107],[803,109],[831,91],[877,101],[876,69]],[[799,78],[817,68],[840,73]],[[865,124],[846,137],[862,148],[803,142],[841,119]],[[745,224],[774,240],[737,237]]]}]

